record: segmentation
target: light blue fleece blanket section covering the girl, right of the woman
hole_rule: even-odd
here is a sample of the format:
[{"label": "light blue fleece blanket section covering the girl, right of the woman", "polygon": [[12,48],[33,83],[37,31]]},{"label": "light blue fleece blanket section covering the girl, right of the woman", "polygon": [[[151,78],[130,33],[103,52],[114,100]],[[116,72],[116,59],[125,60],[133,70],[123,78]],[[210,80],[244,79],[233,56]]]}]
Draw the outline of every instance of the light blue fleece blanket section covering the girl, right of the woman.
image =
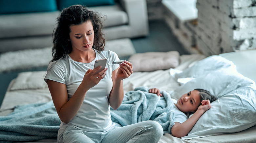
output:
[{"label": "light blue fleece blanket section covering the girl, right of the woman", "polygon": [[117,126],[126,126],[146,120],[160,123],[164,133],[170,133],[174,125],[169,93],[162,91],[162,97],[149,93],[148,87],[137,87],[124,95],[117,110],[111,108],[111,119]]}]

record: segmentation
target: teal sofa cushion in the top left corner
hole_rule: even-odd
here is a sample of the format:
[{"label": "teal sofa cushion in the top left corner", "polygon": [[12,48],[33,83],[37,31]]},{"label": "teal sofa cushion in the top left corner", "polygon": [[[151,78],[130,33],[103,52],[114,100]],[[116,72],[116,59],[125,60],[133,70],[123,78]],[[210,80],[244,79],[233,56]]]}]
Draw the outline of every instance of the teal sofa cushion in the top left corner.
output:
[{"label": "teal sofa cushion in the top left corner", "polygon": [[56,0],[1,0],[0,14],[56,11]]}]

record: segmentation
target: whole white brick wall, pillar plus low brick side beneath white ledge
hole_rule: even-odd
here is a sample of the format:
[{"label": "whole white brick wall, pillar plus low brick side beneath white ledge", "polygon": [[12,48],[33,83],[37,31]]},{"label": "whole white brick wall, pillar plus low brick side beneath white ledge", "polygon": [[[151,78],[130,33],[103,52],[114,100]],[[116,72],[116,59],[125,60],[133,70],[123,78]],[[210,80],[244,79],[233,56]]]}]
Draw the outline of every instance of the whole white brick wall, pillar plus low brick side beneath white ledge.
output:
[{"label": "whole white brick wall, pillar plus low brick side beneath white ledge", "polygon": [[163,7],[164,20],[191,54],[256,48],[256,0],[197,0],[194,20],[181,20],[164,3]]}]

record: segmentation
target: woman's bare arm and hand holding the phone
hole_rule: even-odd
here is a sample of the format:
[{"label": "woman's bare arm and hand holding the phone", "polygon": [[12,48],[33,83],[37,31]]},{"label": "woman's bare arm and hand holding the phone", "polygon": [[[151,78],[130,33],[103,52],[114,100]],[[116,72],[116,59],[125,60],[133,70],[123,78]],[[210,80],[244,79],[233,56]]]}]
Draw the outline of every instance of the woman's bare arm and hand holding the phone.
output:
[{"label": "woman's bare arm and hand holding the phone", "polygon": [[84,101],[87,91],[97,85],[106,75],[107,69],[100,71],[100,68],[97,67],[95,70],[89,69],[85,73],[81,84],[70,100],[68,100],[66,84],[47,80],[54,106],[62,122],[69,123],[75,117]]}]

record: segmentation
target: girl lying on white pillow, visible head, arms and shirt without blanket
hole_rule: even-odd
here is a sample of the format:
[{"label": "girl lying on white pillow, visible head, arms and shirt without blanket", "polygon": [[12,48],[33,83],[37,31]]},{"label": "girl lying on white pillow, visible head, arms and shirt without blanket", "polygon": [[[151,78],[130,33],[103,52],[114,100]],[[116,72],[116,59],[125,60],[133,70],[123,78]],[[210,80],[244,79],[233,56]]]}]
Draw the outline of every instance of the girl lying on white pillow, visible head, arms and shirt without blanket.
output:
[{"label": "girl lying on white pillow, visible head, arms and shirt without blanket", "polygon": [[[157,88],[149,89],[149,93],[162,96],[160,90]],[[171,134],[179,138],[186,136],[203,113],[211,108],[211,102],[215,100],[216,97],[204,89],[194,89],[193,91],[183,94],[181,98],[173,104],[173,120],[175,124],[171,128]],[[193,115],[187,118],[190,114]]]}]

